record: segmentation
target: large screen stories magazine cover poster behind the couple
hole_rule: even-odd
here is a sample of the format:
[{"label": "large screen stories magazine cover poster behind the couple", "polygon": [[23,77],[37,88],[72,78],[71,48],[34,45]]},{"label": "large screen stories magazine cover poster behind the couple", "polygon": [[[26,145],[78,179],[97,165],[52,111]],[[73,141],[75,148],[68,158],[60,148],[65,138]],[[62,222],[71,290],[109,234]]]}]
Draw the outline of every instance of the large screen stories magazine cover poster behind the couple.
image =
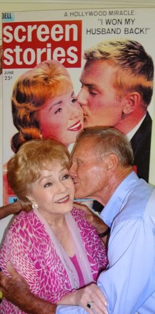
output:
[{"label": "large screen stories magazine cover poster behind the couple", "polygon": [[87,127],[125,133],[134,171],[149,181],[155,9],[2,13],[3,204],[17,200],[7,162],[32,138],[72,151]]}]

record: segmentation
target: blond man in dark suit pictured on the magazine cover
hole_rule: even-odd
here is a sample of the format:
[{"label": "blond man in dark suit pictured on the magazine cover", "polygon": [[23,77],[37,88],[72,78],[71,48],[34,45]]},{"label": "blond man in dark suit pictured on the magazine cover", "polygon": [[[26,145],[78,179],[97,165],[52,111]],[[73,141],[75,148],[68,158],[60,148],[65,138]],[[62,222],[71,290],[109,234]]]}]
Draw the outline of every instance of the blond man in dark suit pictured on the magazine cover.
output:
[{"label": "blond man in dark suit pictured on the magazine cover", "polygon": [[133,40],[103,41],[84,52],[78,102],[84,127],[114,126],[128,136],[134,166],[149,180],[152,119],[147,111],[153,94],[154,64]]}]

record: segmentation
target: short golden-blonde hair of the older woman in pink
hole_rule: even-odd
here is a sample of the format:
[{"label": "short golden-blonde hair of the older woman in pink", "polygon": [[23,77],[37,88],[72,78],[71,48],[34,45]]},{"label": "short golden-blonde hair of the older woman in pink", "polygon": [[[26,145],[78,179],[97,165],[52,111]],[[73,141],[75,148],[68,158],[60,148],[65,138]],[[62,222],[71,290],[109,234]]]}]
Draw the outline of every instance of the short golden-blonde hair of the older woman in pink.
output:
[{"label": "short golden-blonde hair of the older woman in pink", "polygon": [[30,192],[30,183],[39,179],[41,170],[49,169],[55,161],[70,168],[71,159],[66,146],[54,139],[29,140],[8,161],[9,185],[26,211],[32,207],[26,197]]}]

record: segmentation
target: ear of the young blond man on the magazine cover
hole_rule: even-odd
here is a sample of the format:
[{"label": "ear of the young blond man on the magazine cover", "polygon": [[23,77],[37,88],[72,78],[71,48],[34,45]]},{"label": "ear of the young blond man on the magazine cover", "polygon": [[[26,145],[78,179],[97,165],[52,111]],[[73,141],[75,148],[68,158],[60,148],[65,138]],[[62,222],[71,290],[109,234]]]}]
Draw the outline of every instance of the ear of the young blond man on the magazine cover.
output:
[{"label": "ear of the young blond man on the magazine cover", "polygon": [[123,113],[129,114],[136,109],[141,103],[141,95],[138,92],[130,92],[124,96],[125,105],[123,107]]}]

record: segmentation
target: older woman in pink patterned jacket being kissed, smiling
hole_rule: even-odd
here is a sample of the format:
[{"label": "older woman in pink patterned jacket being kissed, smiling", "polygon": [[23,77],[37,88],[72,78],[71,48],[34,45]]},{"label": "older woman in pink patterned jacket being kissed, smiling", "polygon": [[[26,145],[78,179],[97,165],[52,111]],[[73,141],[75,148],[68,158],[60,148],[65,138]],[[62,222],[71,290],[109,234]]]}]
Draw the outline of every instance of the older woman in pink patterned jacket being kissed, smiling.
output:
[{"label": "older woman in pink patterned jacket being kissed, smiling", "polygon": [[[8,162],[9,184],[25,211],[5,236],[0,266],[8,274],[11,261],[31,292],[52,303],[96,281],[107,263],[95,229],[73,209],[69,167],[67,148],[51,139],[27,141]],[[3,298],[0,313],[24,312]]]}]

